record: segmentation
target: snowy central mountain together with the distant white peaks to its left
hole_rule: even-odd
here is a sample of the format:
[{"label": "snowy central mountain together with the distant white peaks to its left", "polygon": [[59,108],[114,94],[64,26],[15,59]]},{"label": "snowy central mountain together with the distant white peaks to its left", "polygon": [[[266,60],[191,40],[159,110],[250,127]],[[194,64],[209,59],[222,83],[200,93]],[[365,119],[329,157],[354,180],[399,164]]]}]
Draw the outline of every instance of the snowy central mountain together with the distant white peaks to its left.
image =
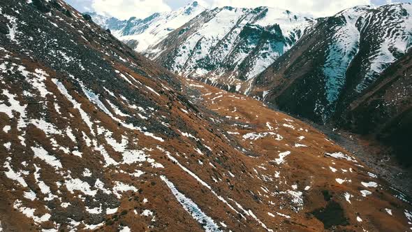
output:
[{"label": "snowy central mountain together with the distant white peaks to its left", "polygon": [[[196,10],[190,10],[191,14],[186,16],[188,9],[195,6]],[[153,29],[143,27],[146,24],[140,23],[141,20],[131,23],[138,25],[135,26],[137,30],[123,30],[115,36],[132,48],[145,43],[145,48],[135,50],[179,75],[247,93],[251,89],[242,85],[250,83],[316,23],[316,20],[288,10],[267,7],[205,9],[197,2],[168,15],[173,17],[159,20],[156,14],[145,20],[156,27],[158,24],[175,25],[168,27],[170,30],[161,27],[164,33],[159,39],[147,36]],[[193,16],[196,17],[191,19]],[[98,15],[92,17],[102,27],[107,27]],[[175,23],[175,18],[179,23]],[[155,33],[161,29],[156,29]]]}]

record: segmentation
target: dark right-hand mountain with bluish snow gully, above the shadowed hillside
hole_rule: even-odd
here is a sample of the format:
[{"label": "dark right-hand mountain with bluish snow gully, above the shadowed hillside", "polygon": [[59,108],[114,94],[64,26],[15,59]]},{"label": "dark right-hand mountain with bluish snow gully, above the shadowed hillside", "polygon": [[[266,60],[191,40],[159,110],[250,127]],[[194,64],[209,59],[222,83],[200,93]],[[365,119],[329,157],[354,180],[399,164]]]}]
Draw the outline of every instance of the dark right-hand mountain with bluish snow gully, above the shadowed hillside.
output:
[{"label": "dark right-hand mountain with bluish snow gully, above the shadowed hillside", "polygon": [[411,13],[410,3],[398,3],[322,19],[257,78],[257,96],[265,91],[282,110],[329,122],[411,48]]}]

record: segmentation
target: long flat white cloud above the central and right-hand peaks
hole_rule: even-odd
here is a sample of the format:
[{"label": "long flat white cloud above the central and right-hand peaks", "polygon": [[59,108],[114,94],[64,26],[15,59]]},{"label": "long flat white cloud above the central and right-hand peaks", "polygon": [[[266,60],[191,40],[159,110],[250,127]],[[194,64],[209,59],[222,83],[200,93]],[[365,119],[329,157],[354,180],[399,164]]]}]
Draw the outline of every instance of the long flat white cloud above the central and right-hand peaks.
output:
[{"label": "long flat white cloud above the central and right-hand peaks", "polygon": [[346,8],[371,5],[371,0],[208,0],[209,6],[233,6],[255,8],[269,6],[304,13],[315,17],[331,16]]}]

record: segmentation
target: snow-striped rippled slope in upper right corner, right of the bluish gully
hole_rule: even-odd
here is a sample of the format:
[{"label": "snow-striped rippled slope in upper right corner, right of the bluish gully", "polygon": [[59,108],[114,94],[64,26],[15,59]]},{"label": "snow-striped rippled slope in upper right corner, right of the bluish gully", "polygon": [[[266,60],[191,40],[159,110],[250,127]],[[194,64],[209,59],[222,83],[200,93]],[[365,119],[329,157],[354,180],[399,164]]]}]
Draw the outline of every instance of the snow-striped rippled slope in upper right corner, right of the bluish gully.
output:
[{"label": "snow-striped rippled slope in upper right corner, right of the bluish gully", "polygon": [[354,78],[346,86],[349,96],[342,98],[345,103],[353,101],[412,47],[412,3],[381,6],[365,15],[360,35],[360,51],[348,68],[347,75]]}]

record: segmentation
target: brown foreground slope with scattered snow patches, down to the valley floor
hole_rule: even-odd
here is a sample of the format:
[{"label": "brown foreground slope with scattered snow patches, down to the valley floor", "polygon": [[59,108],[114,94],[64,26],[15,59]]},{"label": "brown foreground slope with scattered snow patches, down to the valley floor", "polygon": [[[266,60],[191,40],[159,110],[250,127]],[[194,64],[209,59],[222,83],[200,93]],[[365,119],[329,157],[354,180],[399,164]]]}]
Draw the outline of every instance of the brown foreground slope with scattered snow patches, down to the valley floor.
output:
[{"label": "brown foreground slope with scattered snow patches, down to the valley floor", "polygon": [[64,1],[0,12],[0,231],[411,228],[411,200],[308,124],[173,75]]}]

